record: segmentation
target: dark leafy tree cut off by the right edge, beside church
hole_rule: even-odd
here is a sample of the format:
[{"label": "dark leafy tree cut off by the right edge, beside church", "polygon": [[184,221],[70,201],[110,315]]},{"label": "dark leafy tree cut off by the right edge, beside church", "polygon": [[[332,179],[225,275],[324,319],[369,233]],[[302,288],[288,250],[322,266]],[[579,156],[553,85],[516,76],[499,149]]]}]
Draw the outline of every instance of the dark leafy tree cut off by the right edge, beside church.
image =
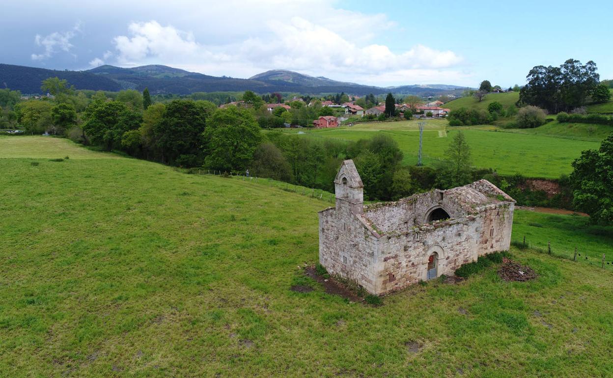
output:
[{"label": "dark leafy tree cut off by the right edge, beside church", "polygon": [[570,175],[573,204],[590,214],[590,221],[613,224],[613,134],[600,145],[589,149],[573,162]]}]

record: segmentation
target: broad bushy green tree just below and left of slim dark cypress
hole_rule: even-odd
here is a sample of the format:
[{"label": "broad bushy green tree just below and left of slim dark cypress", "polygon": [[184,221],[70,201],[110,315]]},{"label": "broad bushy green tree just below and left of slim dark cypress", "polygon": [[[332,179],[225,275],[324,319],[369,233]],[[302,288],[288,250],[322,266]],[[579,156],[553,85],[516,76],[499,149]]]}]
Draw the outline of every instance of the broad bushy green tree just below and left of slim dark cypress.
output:
[{"label": "broad bushy green tree just below and left of slim dark cypress", "polygon": [[83,131],[89,140],[107,151],[121,148],[121,138],[129,130],[138,129],[140,115],[119,101],[93,102]]}]

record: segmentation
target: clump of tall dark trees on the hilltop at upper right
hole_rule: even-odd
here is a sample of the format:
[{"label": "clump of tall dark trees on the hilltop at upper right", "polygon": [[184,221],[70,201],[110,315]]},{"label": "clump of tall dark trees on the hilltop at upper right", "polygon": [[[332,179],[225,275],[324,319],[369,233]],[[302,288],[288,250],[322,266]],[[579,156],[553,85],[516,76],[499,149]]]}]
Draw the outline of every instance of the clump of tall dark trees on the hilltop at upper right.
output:
[{"label": "clump of tall dark trees on the hilltop at upper right", "polygon": [[519,92],[519,101],[550,113],[567,112],[585,104],[600,75],[596,63],[568,59],[560,67],[536,66],[528,72],[528,84]]}]

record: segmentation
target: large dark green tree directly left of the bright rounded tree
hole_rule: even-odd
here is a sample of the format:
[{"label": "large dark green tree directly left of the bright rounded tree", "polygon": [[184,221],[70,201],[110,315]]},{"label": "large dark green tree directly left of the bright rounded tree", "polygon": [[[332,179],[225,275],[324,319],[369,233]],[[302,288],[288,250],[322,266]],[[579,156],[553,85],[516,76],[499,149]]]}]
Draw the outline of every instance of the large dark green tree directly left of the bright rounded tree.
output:
[{"label": "large dark green tree directly left of the bright rounded tree", "polygon": [[212,102],[192,100],[172,100],[166,105],[162,119],[153,126],[162,161],[187,167],[202,165],[202,132],[215,108]]}]

